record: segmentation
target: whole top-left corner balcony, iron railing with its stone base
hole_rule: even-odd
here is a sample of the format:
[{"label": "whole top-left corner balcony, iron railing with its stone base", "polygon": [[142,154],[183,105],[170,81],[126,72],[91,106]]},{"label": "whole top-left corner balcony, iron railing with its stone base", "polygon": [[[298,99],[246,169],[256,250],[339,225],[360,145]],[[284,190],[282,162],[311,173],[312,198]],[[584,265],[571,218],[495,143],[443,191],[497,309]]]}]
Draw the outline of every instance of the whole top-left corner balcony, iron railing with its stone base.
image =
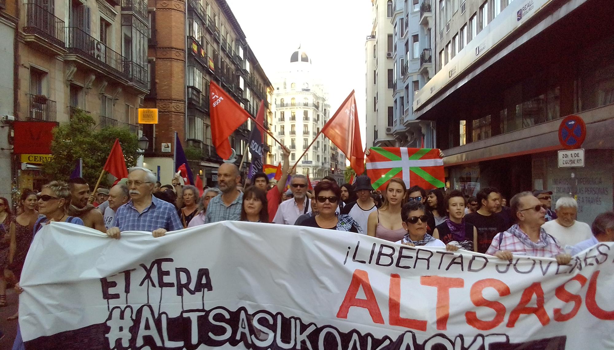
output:
[{"label": "whole top-left corner balcony, iron railing with its stone base", "polygon": [[43,51],[54,54],[66,53],[64,21],[38,4],[26,4],[26,23],[23,27],[24,41],[33,43]]}]

